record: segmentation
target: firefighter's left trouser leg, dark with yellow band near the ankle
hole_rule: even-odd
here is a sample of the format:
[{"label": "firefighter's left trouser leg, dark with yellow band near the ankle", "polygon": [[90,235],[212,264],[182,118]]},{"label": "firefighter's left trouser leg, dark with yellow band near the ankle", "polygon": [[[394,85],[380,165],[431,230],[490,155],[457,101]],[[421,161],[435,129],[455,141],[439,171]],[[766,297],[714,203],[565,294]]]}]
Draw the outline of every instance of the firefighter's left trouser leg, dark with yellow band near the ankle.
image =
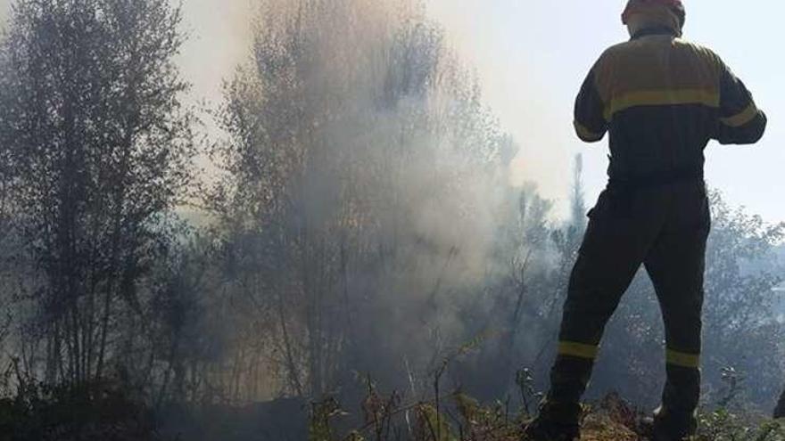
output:
[{"label": "firefighter's left trouser leg, dark with yellow band near the ankle", "polygon": [[554,421],[577,423],[579,403],[591,378],[607,321],[638,271],[649,243],[660,231],[656,197],[647,203],[631,204],[630,216],[616,216],[617,199],[616,192],[609,190],[599,197],[570,275],[558,356],[550,371],[544,409],[546,417]]}]

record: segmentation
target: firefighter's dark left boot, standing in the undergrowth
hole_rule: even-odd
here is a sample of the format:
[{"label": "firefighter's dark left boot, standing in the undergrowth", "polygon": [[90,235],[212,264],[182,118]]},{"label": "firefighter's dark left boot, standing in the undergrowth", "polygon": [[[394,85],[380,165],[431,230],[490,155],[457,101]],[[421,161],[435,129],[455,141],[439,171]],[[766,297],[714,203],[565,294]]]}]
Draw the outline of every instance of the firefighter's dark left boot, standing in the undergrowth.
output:
[{"label": "firefighter's dark left boot, standing in the undergrowth", "polygon": [[545,402],[540,414],[524,429],[523,441],[577,441],[581,437],[580,404]]}]

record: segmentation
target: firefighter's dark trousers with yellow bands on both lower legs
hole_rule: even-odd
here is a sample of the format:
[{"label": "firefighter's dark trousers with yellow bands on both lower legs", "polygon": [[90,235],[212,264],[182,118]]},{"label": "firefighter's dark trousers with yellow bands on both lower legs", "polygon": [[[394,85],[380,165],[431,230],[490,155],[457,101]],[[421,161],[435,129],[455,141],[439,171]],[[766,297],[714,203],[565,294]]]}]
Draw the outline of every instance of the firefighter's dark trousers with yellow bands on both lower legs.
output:
[{"label": "firefighter's dark trousers with yellow bands on both lower legs", "polygon": [[570,276],[550,372],[545,403],[561,409],[553,412],[559,422],[577,421],[605,326],[641,265],[665,323],[661,413],[680,421],[692,418],[700,395],[709,213],[702,179],[640,188],[609,184],[600,194]]}]

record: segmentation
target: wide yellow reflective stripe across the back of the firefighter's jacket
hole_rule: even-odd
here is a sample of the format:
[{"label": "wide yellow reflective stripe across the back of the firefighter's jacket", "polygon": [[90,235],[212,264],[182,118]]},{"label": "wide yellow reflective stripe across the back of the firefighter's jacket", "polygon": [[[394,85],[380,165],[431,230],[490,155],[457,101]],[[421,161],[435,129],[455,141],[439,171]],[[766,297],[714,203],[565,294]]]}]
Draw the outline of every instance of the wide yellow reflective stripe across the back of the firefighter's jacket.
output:
[{"label": "wide yellow reflective stripe across the back of the firefighter's jacket", "polygon": [[605,109],[605,119],[610,121],[617,112],[637,106],[667,106],[703,104],[720,107],[720,94],[704,89],[640,90],[617,96]]}]

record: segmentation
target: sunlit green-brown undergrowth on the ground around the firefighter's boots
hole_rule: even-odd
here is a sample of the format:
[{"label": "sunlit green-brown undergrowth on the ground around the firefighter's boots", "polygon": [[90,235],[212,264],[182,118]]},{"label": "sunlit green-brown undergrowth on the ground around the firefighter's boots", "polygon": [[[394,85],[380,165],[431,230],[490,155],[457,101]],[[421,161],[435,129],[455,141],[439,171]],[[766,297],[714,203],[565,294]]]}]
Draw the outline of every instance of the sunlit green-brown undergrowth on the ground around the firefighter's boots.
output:
[{"label": "sunlit green-brown undergrowth on the ground around the firefighter's boots", "polygon": [[[439,409],[437,411],[437,409]],[[636,441],[641,435],[640,410],[611,394],[584,406],[582,441]],[[508,403],[483,405],[460,391],[435,400],[402,404],[396,394],[374,396],[362,404],[359,428],[337,433],[350,412],[335,399],[312,405],[309,441],[525,441],[523,428],[531,416]],[[743,415],[725,409],[702,412],[697,436],[690,441],[785,441],[785,421]]]}]

